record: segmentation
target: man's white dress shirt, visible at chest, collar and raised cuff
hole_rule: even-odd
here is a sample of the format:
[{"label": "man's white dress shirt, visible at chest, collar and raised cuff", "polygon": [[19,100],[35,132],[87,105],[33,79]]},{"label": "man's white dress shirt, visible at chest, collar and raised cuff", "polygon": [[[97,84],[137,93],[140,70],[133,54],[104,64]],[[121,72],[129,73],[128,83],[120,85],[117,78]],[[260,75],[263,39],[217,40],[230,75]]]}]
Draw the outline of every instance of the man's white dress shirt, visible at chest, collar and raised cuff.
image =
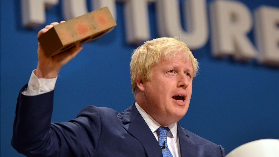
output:
[{"label": "man's white dress shirt, visible at chest, collar and raised cuff", "polygon": [[[31,77],[28,82],[27,88],[22,92],[23,95],[26,96],[36,96],[39,94],[47,93],[54,90],[56,78],[53,79],[45,79],[38,78],[35,75],[35,70],[32,71]],[[135,102],[135,106],[139,113],[144,118],[145,122],[149,126],[150,130],[153,132],[156,140],[159,140],[158,133],[156,130],[161,126],[156,120],[154,120],[150,115],[148,115],[139,105]],[[177,125],[176,123],[170,124],[167,126],[170,129],[170,132],[167,134],[167,143],[168,148],[174,157],[180,157],[180,145],[179,138],[177,135]]]}]

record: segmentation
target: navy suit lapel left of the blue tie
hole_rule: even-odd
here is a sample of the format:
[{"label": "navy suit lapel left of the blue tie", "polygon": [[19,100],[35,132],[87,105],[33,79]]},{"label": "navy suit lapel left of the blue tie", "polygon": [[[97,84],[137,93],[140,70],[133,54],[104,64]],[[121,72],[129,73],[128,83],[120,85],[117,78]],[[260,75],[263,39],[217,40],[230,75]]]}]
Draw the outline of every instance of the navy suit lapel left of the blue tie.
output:
[{"label": "navy suit lapel left of the blue tie", "polygon": [[123,128],[142,143],[148,156],[163,156],[158,141],[142,116],[139,114],[135,107],[135,103],[124,111],[122,123]]}]

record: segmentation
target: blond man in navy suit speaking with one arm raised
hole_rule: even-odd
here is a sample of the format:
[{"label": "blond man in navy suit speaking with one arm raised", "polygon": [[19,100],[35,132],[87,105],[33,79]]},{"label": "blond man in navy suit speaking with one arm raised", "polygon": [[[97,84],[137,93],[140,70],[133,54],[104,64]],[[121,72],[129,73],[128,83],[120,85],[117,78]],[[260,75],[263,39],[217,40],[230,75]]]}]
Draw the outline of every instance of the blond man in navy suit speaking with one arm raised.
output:
[{"label": "blond man in navy suit speaking with one arm raised", "polygon": [[[63,22],[63,21],[62,21]],[[59,23],[51,23],[38,36]],[[88,106],[76,119],[51,123],[59,69],[82,47],[47,58],[38,46],[38,66],[21,89],[12,146],[27,156],[225,156],[218,146],[182,128],[198,62],[185,43],[158,38],[138,47],[131,59],[136,102],[121,113]]]}]

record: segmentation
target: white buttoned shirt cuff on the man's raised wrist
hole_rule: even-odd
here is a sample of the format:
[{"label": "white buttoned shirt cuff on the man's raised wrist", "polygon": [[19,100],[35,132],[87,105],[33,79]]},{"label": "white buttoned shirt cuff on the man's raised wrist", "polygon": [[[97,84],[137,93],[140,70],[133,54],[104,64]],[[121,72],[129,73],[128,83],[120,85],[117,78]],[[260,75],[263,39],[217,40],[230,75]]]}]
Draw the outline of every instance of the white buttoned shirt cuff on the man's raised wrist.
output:
[{"label": "white buttoned shirt cuff on the man's raised wrist", "polygon": [[36,96],[54,90],[57,77],[52,79],[39,78],[32,71],[27,88],[21,93],[25,96]]}]

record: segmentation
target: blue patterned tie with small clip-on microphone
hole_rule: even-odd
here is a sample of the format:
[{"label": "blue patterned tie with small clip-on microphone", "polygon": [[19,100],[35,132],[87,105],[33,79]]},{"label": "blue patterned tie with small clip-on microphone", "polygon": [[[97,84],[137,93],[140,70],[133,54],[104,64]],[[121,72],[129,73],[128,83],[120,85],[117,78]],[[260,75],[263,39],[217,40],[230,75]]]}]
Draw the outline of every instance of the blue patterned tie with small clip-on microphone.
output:
[{"label": "blue patterned tie with small clip-on microphone", "polygon": [[170,131],[170,129],[168,127],[160,127],[157,129],[157,132],[159,134],[159,145],[162,148],[162,152],[163,152],[163,157],[173,157],[172,153],[170,152],[169,148],[168,148],[168,143],[167,143],[167,134]]}]

